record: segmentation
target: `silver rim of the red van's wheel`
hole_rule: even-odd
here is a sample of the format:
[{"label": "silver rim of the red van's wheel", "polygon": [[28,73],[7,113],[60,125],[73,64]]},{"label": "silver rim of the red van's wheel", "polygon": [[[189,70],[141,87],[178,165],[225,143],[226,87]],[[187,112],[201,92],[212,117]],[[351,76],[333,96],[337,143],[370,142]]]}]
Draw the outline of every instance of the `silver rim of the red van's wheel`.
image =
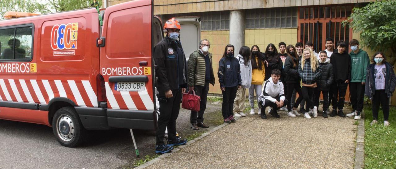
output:
[{"label": "silver rim of the red van's wheel", "polygon": [[57,133],[63,141],[69,142],[74,137],[74,122],[69,115],[61,115],[57,120]]}]

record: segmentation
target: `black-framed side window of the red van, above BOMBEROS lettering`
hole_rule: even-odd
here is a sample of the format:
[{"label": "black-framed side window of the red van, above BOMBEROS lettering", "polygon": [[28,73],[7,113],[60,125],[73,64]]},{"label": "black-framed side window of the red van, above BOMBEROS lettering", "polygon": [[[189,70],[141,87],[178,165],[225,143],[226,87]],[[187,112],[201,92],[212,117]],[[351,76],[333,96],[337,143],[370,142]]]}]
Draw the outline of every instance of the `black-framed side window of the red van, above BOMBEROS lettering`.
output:
[{"label": "black-framed side window of the red van, above BOMBEROS lettering", "polygon": [[33,26],[0,28],[0,62],[30,61]]}]

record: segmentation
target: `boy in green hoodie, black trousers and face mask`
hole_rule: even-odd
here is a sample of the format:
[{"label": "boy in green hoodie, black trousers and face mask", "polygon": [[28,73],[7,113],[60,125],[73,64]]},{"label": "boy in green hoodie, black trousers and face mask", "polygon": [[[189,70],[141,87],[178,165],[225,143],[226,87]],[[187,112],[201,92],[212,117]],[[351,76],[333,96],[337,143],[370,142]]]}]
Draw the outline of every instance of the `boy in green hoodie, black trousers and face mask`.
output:
[{"label": "boy in green hoodie, black trousers and face mask", "polygon": [[370,64],[369,55],[366,51],[359,49],[359,41],[352,39],[349,41],[349,55],[352,60],[351,81],[349,83],[350,102],[352,103],[352,112],[347,114],[356,120],[360,119],[360,113],[363,109],[364,88],[366,85],[366,69]]}]

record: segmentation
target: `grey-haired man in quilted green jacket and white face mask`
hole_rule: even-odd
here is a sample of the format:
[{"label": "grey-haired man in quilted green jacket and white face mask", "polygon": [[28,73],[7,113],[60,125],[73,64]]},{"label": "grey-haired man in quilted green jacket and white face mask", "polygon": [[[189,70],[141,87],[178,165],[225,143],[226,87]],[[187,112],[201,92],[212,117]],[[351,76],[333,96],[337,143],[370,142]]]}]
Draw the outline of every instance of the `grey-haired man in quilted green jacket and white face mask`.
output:
[{"label": "grey-haired man in quilted green jacket and white face mask", "polygon": [[199,130],[209,128],[204,124],[204,112],[206,109],[206,100],[208,98],[209,83],[215,85],[215,76],[212,68],[212,54],[209,53],[210,42],[203,39],[200,42],[199,49],[190,54],[188,59],[188,89],[194,90],[195,94],[201,97],[200,111],[191,111],[190,128]]}]

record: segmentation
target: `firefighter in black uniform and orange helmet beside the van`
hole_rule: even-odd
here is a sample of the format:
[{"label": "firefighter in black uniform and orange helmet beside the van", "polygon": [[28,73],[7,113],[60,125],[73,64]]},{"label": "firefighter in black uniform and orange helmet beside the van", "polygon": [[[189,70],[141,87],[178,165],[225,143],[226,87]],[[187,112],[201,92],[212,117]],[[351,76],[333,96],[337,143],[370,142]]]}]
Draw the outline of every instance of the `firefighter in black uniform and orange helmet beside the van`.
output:
[{"label": "firefighter in black uniform and orange helmet beside the van", "polygon": [[[180,23],[174,18],[165,25],[166,38],[154,47],[154,69],[157,95],[160,102],[160,115],[156,134],[156,153],[166,153],[173,146],[184,145],[187,139],[176,137],[176,119],[179,116],[182,93],[187,88],[187,63],[179,38]],[[164,143],[165,129],[168,126],[168,144]]]}]

